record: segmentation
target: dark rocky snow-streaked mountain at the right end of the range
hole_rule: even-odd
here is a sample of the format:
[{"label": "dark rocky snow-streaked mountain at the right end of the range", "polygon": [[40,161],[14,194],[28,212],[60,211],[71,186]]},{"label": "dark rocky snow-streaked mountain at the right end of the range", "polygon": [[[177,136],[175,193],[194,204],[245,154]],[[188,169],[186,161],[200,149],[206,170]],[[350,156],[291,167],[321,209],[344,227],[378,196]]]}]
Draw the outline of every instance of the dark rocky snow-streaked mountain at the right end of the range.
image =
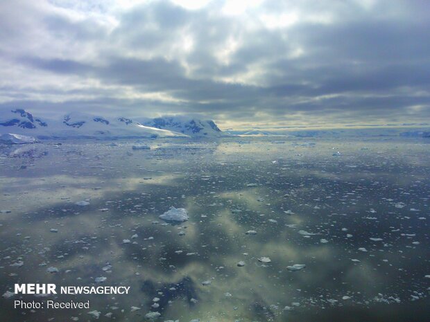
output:
[{"label": "dark rocky snow-streaked mountain at the right end of the range", "polygon": [[223,135],[213,120],[198,120],[196,118],[190,120],[184,116],[166,116],[142,120],[142,124],[157,129],[169,129],[189,136],[214,137]]}]

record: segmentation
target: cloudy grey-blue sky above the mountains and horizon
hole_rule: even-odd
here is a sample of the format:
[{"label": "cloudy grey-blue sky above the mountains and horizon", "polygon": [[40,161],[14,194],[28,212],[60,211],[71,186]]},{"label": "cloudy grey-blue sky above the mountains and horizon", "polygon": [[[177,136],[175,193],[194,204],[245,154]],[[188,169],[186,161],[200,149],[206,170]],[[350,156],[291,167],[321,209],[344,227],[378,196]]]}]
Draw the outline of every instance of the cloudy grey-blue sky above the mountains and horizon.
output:
[{"label": "cloudy grey-blue sky above the mountains and horizon", "polygon": [[0,107],[221,128],[430,120],[430,1],[0,1]]}]

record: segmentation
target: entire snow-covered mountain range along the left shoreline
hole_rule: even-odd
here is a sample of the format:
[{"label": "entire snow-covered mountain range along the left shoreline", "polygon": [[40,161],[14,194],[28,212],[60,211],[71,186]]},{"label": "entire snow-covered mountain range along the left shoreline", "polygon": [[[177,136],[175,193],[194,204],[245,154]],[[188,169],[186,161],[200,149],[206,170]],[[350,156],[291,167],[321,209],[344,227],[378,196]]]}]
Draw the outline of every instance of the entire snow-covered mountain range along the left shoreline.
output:
[{"label": "entire snow-covered mountain range along the left shoreline", "polygon": [[106,118],[71,113],[60,119],[42,119],[24,109],[0,110],[0,134],[15,133],[37,138],[139,138],[220,136],[212,120],[182,120],[173,118],[146,119],[145,123],[131,118]]}]

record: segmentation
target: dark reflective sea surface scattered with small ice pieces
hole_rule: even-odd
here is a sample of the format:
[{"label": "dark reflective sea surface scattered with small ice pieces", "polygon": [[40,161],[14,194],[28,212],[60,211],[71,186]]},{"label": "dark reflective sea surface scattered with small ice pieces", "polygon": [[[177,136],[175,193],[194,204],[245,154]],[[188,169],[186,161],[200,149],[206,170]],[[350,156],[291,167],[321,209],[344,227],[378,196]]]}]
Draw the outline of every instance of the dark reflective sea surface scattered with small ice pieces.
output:
[{"label": "dark reflective sea surface scattered with small ice pieces", "polygon": [[[0,293],[131,289],[46,297],[89,310],[3,296],[0,321],[430,321],[429,195],[428,140],[2,147]],[[171,206],[189,220],[160,220]]]}]

